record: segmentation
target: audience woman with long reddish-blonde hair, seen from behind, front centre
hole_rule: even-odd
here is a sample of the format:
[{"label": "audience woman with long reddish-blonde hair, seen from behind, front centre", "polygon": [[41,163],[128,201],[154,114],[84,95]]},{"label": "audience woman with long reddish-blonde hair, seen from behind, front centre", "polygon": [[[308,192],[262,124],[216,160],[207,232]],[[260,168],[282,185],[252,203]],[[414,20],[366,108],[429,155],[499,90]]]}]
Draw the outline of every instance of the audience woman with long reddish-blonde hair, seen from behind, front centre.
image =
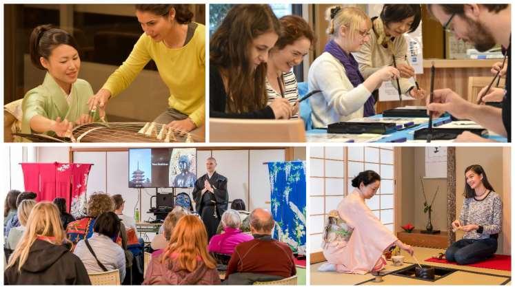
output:
[{"label": "audience woman with long reddish-blonde hair, seen from behind, front centre", "polygon": [[208,233],[199,217],[182,217],[161,257],[150,261],[143,285],[220,284],[216,261],[207,248]]}]

